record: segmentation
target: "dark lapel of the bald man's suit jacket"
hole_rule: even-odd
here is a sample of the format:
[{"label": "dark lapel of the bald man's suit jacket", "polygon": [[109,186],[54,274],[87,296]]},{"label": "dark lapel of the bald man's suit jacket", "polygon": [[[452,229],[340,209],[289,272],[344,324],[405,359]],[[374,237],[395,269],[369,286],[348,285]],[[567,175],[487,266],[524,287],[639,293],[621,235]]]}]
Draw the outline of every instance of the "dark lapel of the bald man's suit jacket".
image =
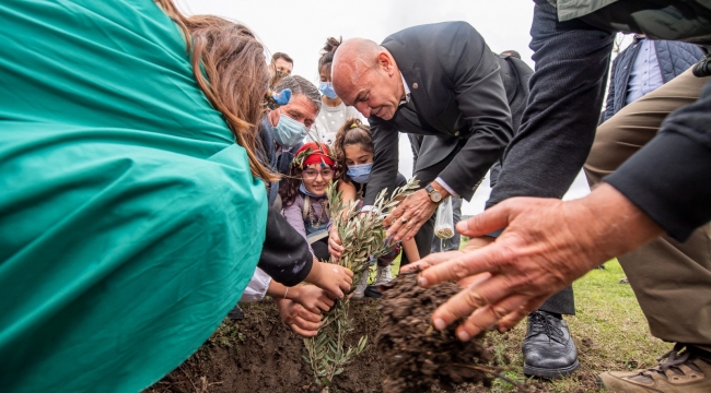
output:
[{"label": "dark lapel of the bald man's suit jacket", "polygon": [[446,130],[446,128],[444,128],[440,122],[438,114],[431,110],[431,108],[434,107],[432,106],[432,103],[430,103],[430,96],[427,94],[427,90],[424,88],[424,83],[420,75],[420,69],[417,67],[417,61],[410,57],[410,53],[400,43],[393,38],[385,38],[385,41],[382,45],[391,52],[391,55],[393,55],[393,58],[395,58],[395,62],[400,69],[403,78],[405,78],[405,82],[410,88],[410,99],[415,104],[417,114],[424,119],[431,128],[441,132]]}]

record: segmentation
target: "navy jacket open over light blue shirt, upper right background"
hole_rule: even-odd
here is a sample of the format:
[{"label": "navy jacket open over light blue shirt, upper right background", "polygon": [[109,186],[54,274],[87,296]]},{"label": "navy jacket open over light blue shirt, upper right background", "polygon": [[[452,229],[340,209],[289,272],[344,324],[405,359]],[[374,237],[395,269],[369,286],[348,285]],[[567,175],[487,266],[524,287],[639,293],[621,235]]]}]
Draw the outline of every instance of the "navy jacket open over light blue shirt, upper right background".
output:
[{"label": "navy jacket open over light blue shirt, upper right background", "polygon": [[[604,121],[611,118],[613,115],[617,114],[626,105],[630,72],[632,71],[634,59],[642,47],[640,40],[634,38],[634,41],[613,61]],[[669,40],[653,40],[652,43],[654,43],[656,60],[660,64],[664,83],[675,79],[703,59],[701,49],[692,44]]]}]

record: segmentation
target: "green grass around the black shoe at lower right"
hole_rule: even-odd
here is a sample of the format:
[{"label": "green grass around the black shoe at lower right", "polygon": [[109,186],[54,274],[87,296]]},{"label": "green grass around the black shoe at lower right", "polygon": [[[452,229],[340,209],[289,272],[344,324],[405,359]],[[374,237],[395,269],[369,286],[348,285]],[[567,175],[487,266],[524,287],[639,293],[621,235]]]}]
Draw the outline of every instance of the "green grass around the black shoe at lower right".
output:
[{"label": "green grass around the black shoe at lower right", "polygon": [[[399,260],[396,262],[399,265]],[[566,320],[578,346],[581,367],[567,379],[544,382],[543,388],[546,390],[587,392],[594,389],[598,373],[656,366],[655,359],[672,348],[672,344],[649,333],[646,320],[632,288],[629,284],[619,284],[620,278],[625,277],[619,262],[611,260],[605,266],[605,270],[587,273],[573,285],[575,315],[567,317]],[[512,361],[506,374],[518,381],[525,380],[521,356],[521,343],[525,334],[525,322],[509,334],[490,334],[497,354],[505,354]],[[493,389],[494,392],[512,390],[514,388],[503,381],[498,381]]]}]

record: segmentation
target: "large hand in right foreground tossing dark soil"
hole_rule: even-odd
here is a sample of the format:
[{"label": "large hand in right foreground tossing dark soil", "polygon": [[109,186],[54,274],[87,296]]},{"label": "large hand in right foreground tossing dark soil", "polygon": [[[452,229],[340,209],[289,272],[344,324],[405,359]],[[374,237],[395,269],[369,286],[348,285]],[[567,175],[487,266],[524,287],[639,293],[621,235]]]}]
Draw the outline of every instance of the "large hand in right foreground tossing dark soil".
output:
[{"label": "large hand in right foreground tossing dark soil", "polygon": [[508,331],[549,296],[591,269],[631,251],[663,230],[625,195],[602,184],[590,195],[569,202],[513,198],[457,224],[461,234],[481,237],[505,228],[489,246],[422,260],[431,267],[418,282],[428,287],[446,281],[479,276],[440,306],[432,324],[444,329],[459,318],[462,341],[498,323]]}]

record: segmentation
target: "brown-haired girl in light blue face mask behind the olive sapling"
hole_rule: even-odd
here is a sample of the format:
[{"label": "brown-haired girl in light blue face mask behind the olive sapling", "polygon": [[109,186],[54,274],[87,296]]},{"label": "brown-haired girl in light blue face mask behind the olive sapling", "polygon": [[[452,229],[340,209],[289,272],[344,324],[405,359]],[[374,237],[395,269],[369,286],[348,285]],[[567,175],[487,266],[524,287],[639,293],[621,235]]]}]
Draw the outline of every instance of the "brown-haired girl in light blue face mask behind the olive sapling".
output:
[{"label": "brown-haired girl in light blue face mask behind the olive sapling", "polygon": [[[334,153],[339,166],[337,178],[341,181],[339,181],[338,190],[342,192],[343,204],[361,200],[365,194],[368,178],[373,167],[373,136],[370,127],[363,124],[358,118],[346,120],[336,134]],[[406,183],[405,176],[398,172],[394,188],[403,187]],[[416,261],[420,259],[413,239],[404,241],[401,248],[408,258],[413,258]],[[334,258],[340,258],[343,251],[338,231],[334,228],[329,231],[328,251]],[[353,293],[353,298],[362,298],[363,296],[380,297],[380,290],[375,287],[387,284],[393,279],[392,264],[399,251],[400,247],[398,245],[393,252],[377,259],[376,278],[373,286],[368,286],[368,275],[363,275]]]}]

